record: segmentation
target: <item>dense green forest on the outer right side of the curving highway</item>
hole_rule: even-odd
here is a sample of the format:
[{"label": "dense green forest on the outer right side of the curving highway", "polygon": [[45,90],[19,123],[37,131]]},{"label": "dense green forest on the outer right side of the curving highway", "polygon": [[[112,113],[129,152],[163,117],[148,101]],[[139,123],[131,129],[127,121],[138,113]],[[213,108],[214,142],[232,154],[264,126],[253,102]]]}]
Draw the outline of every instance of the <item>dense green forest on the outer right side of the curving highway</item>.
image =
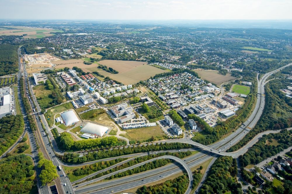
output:
[{"label": "dense green forest on the outer right side of the curving highway", "polygon": [[249,142],[258,133],[266,130],[284,129],[292,126],[292,99],[280,89],[288,82],[281,79],[271,80],[265,85],[265,109],[257,125],[246,136],[227,151],[235,151]]}]

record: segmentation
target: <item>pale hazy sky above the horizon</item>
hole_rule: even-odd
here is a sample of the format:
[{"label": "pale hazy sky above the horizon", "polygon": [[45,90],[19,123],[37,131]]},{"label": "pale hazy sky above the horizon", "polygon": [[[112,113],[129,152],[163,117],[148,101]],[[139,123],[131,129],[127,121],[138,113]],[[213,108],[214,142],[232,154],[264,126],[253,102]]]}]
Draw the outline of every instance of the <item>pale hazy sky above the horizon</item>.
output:
[{"label": "pale hazy sky above the horizon", "polygon": [[0,19],[292,19],[292,0],[0,0]]}]

